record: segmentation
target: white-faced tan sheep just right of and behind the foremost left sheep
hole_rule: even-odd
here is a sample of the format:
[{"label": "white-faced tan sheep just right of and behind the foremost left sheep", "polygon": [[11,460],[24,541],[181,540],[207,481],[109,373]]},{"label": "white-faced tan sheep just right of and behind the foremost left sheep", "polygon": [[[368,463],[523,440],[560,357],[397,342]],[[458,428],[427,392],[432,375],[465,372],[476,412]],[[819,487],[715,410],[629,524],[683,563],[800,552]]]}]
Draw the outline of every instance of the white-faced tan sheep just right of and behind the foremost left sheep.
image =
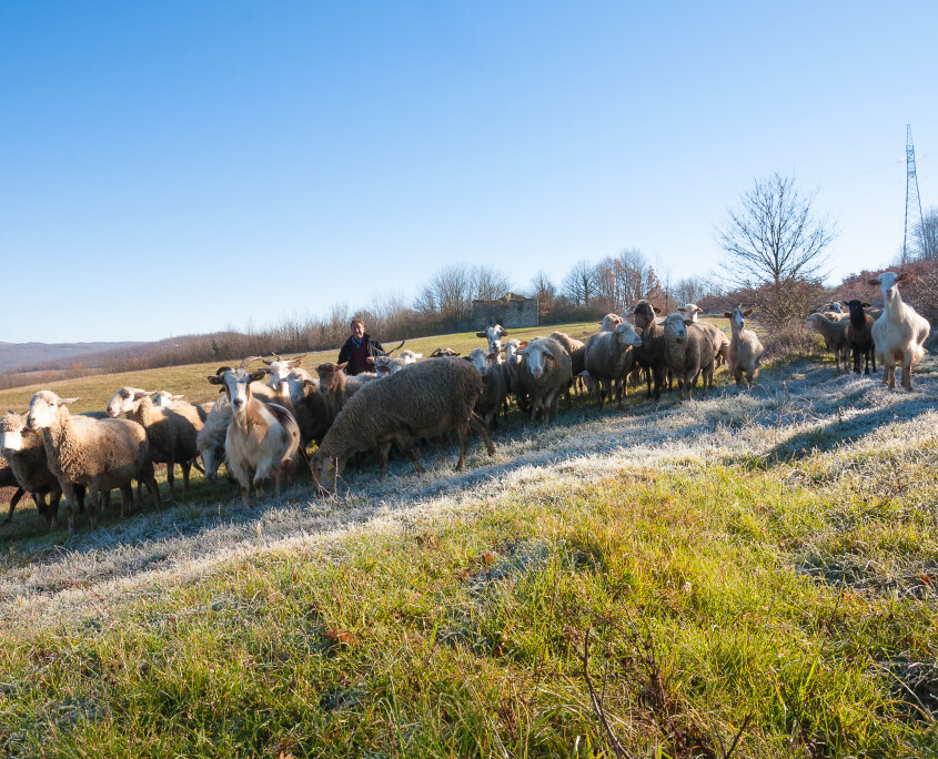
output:
[{"label": "white-faced tan sheep just right of and behind the foremost left sheep", "polygon": [[182,492],[189,493],[189,473],[199,456],[195,438],[205,423],[205,409],[191,403],[173,403],[160,408],[150,397],[153,392],[121,387],[108,403],[111,417],[127,414],[147,431],[150,461],[167,465],[170,499],[175,500],[175,465],[182,469]]}]

